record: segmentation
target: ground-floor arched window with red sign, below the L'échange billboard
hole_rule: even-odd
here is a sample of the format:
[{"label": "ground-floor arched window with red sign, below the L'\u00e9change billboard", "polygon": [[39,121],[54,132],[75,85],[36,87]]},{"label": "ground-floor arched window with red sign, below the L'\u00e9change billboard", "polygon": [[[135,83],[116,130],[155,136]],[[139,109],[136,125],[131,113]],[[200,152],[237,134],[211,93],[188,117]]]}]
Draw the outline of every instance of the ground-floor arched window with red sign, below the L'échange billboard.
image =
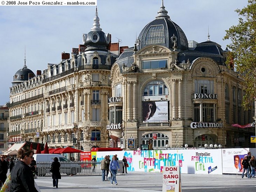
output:
[{"label": "ground-floor arched window with red sign, below the L'\u00e9change billboard", "polygon": [[152,139],[152,147],[165,148],[169,144],[169,138],[163,133],[149,133],[142,136],[142,144],[148,144],[149,139]]}]

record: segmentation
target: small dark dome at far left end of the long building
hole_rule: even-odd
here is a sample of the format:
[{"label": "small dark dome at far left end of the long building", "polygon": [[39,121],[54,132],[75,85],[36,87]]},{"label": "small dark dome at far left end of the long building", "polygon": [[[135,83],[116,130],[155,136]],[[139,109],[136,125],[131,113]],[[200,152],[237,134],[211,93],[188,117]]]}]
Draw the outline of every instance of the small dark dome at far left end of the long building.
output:
[{"label": "small dark dome at far left end of the long building", "polygon": [[28,81],[29,78],[35,76],[34,72],[27,68],[26,59],[24,59],[24,61],[25,63],[23,68],[19,69],[13,76],[13,82],[12,82],[13,85],[22,83],[24,81]]}]

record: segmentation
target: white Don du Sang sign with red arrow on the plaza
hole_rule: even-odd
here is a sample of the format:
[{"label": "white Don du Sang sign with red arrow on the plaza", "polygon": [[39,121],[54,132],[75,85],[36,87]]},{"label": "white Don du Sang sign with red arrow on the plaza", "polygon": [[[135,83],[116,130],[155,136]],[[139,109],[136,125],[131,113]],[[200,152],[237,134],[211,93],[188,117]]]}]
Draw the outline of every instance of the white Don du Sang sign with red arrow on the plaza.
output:
[{"label": "white Don du Sang sign with red arrow on the plaza", "polygon": [[163,167],[163,192],[182,192],[179,166]]}]

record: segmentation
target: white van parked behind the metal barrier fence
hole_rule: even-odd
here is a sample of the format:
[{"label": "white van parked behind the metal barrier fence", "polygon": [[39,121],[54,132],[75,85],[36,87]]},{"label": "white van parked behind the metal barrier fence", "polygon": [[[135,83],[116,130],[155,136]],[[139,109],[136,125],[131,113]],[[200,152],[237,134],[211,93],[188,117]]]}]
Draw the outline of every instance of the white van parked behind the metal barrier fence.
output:
[{"label": "white van parked behind the metal barrier fence", "polygon": [[38,175],[44,176],[50,173],[49,170],[54,157],[57,157],[60,162],[61,173],[70,175],[81,172],[81,166],[79,164],[70,161],[60,154],[34,154],[33,157],[37,164],[36,168]]}]

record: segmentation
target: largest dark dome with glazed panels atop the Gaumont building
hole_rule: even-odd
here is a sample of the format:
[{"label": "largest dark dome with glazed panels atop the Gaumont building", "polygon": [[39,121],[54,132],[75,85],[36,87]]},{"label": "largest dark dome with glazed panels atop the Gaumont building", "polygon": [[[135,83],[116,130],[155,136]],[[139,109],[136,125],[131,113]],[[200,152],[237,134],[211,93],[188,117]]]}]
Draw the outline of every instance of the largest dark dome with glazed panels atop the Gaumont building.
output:
[{"label": "largest dark dome with glazed panels atop the Gaumont building", "polygon": [[142,29],[136,40],[138,49],[153,44],[172,48],[174,43],[177,44],[177,48],[180,50],[188,49],[188,40],[185,33],[175,22],[170,20],[170,16],[167,13],[162,0],[162,6],[156,19]]}]

